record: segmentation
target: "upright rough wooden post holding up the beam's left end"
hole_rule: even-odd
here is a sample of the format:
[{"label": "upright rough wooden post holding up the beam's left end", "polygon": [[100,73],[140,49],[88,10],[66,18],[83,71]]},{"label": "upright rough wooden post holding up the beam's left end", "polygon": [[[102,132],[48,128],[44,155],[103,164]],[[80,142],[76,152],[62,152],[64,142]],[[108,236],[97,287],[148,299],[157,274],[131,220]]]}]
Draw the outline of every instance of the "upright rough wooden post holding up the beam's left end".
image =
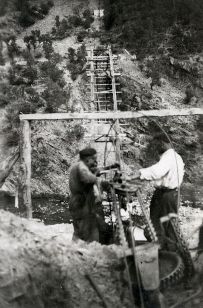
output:
[{"label": "upright rough wooden post holding up the beam's left end", "polygon": [[27,218],[32,218],[31,206],[31,142],[30,124],[28,120],[20,122],[20,197],[26,208]]}]

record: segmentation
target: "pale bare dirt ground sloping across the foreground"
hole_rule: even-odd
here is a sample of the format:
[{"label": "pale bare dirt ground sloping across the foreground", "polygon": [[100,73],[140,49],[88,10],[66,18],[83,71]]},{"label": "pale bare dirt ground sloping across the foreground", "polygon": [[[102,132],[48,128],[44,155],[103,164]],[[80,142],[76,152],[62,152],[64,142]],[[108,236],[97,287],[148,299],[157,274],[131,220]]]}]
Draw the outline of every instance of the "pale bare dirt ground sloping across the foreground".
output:
[{"label": "pale bare dirt ground sloping across the foreground", "polygon": [[[191,220],[198,217],[199,211],[192,214]],[[181,216],[184,224],[184,210]],[[86,273],[97,283],[110,307],[131,307],[121,247],[74,243],[72,234],[72,224],[45,226],[38,220],[0,211],[1,308],[103,307]],[[196,244],[196,235],[190,243]],[[163,292],[169,306],[194,294],[202,285],[203,255],[193,257],[195,278]],[[200,308],[202,295],[201,292],[178,307]]]}]

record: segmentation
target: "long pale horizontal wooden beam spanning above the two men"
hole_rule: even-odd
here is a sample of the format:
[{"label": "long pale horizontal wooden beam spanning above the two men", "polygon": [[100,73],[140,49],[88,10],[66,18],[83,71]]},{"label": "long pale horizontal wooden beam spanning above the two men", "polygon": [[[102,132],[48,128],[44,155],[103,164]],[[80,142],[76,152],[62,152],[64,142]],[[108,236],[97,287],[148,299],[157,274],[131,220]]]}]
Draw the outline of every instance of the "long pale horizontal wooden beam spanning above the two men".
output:
[{"label": "long pale horizontal wooden beam spanning above the two men", "polygon": [[203,114],[203,108],[159,109],[140,111],[103,111],[74,113],[20,114],[20,120],[68,120],[68,119],[132,119],[145,116],[186,116]]}]

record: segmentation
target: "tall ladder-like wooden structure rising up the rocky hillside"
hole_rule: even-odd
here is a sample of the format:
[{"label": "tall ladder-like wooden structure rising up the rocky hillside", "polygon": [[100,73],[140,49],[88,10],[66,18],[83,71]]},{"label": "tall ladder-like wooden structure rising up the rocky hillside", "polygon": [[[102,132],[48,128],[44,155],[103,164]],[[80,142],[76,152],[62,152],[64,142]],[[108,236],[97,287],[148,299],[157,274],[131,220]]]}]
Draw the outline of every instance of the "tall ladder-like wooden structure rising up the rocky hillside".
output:
[{"label": "tall ladder-like wooden structure rising up the rocky hillside", "polygon": [[[117,99],[121,96],[121,91],[117,90],[120,83],[116,80],[120,76],[117,55],[112,54],[111,46],[103,49],[94,49],[91,46],[87,52],[86,72],[90,83],[86,84],[86,102],[89,103],[90,111],[118,111],[118,103],[122,100]],[[102,132],[96,132],[94,129],[94,142],[112,142],[116,160],[121,162],[120,137],[122,134],[120,134],[119,120],[116,119],[113,124],[109,120],[98,120],[94,121],[92,126],[96,128],[97,124],[102,128]]]}]

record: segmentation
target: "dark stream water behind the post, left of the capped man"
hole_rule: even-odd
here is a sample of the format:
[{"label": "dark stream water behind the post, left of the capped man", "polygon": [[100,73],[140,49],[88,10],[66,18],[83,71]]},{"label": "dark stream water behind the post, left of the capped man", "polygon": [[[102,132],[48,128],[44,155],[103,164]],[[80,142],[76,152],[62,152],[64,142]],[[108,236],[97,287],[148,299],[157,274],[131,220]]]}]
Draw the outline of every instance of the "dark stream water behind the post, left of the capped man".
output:
[{"label": "dark stream water behind the post, left of the capped man", "polygon": [[[1,196],[0,209],[10,211],[19,216],[23,214],[20,208],[15,207],[14,197]],[[61,202],[52,199],[32,199],[32,215],[33,218],[42,220],[45,225],[60,223],[70,224],[72,222],[68,203],[64,201]]]}]

